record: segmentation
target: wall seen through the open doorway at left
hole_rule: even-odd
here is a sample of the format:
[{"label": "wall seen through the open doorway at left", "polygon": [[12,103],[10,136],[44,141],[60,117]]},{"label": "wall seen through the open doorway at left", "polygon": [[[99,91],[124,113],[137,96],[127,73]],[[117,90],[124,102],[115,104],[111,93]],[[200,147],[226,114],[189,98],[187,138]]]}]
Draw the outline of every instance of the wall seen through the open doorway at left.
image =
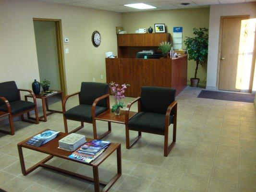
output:
[{"label": "wall seen through the open doorway at left", "polygon": [[61,90],[56,28],[54,21],[34,21],[37,62],[41,81],[50,81],[50,89]]}]

